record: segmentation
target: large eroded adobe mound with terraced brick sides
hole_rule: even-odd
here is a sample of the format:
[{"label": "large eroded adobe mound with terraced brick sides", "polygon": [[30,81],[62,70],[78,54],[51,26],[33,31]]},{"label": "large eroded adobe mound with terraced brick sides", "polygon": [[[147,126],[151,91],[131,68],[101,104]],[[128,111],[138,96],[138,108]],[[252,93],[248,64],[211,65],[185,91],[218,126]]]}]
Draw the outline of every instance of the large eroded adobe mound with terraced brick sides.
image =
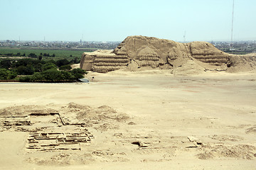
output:
[{"label": "large eroded adobe mound with terraced brick sides", "polygon": [[145,36],[129,36],[114,50],[83,53],[80,68],[102,73],[131,65],[133,68],[175,69],[193,61],[206,69],[228,69],[232,67],[232,57],[234,60],[234,56],[218,50],[209,42],[180,43]]}]

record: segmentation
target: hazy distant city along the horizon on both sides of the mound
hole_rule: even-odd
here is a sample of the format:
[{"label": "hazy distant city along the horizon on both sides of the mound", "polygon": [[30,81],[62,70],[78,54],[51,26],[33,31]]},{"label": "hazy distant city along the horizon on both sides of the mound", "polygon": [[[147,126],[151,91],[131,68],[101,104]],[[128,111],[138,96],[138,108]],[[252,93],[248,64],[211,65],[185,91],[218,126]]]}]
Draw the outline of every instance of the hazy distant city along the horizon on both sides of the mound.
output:
[{"label": "hazy distant city along the horizon on both sides of the mound", "polygon": [[[98,41],[19,41],[19,40],[1,40],[0,47],[11,48],[47,48],[47,49],[63,49],[63,50],[82,50],[91,49],[94,50],[112,50],[120,42],[98,42]],[[256,41],[211,41],[211,43],[224,52],[247,54],[256,52]]]}]

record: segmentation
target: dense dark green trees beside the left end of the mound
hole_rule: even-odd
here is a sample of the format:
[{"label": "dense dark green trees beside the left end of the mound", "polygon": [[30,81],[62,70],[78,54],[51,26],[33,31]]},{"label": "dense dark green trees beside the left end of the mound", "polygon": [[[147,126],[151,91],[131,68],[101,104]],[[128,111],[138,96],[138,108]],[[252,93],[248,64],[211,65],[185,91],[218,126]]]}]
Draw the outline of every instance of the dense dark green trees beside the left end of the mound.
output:
[{"label": "dense dark green trees beside the left end of the mound", "polygon": [[82,69],[71,70],[70,64],[73,64],[73,60],[1,60],[0,79],[14,79],[17,75],[21,75],[20,81],[55,82],[82,78],[86,72]]}]

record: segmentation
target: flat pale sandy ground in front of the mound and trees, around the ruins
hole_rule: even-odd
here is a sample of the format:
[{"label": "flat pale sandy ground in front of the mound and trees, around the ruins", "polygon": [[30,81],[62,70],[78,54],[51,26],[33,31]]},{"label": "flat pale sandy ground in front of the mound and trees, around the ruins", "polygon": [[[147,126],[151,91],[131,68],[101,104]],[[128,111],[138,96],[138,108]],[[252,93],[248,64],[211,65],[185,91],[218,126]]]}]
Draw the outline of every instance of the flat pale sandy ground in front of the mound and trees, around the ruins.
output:
[{"label": "flat pale sandy ground in front of the mound and trees, around the ruins", "polygon": [[[0,84],[1,169],[256,169],[255,72],[87,77],[89,84]],[[70,125],[55,115],[3,124],[31,113],[58,113]],[[28,149],[33,132],[85,128],[93,137],[78,150]]]}]

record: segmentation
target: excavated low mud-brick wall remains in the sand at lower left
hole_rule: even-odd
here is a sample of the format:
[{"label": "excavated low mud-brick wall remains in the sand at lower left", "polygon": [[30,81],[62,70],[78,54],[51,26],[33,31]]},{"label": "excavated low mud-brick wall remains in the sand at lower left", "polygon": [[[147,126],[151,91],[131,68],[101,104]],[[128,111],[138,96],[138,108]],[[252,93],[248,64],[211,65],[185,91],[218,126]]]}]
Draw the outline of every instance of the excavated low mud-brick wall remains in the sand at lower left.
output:
[{"label": "excavated low mud-brick wall remains in the sand at lower left", "polygon": [[31,113],[0,117],[0,131],[29,132],[26,149],[32,151],[80,150],[93,135],[81,124],[65,124],[59,113]]}]

